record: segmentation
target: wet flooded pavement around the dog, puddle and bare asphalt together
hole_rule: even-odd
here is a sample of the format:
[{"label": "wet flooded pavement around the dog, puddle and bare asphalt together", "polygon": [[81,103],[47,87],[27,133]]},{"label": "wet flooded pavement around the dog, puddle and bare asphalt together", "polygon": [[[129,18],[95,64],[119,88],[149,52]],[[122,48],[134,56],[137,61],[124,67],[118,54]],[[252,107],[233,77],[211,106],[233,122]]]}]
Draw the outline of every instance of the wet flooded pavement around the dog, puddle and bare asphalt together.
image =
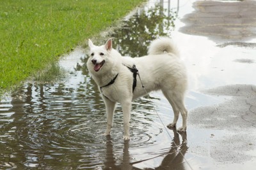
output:
[{"label": "wet flooded pavement around the dog, puddle and bare asphalt together", "polygon": [[97,39],[114,37],[132,57],[159,35],[175,39],[189,74],[186,133],[166,132],[154,108],[164,125],[172,108],[153,92],[132,105],[131,141],[119,105],[102,136],[104,103],[77,48],[58,80],[28,81],[1,100],[0,169],[255,169],[255,11],[255,1],[149,1]]}]

